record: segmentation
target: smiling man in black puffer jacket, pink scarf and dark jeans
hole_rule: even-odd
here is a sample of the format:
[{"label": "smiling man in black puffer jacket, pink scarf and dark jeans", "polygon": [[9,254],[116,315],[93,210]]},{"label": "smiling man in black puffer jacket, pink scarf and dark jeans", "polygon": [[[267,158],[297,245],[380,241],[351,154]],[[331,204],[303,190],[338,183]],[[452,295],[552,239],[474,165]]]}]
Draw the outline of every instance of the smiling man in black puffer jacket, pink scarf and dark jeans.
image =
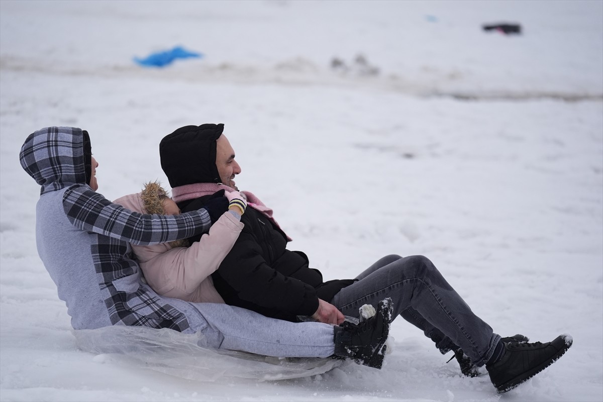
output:
[{"label": "smiling man in black puffer jacket, pink scarf and dark jeans", "polygon": [[[159,145],[163,171],[183,212],[203,207],[218,191],[238,190],[234,178],[241,167],[223,130],[223,124],[189,125]],[[545,344],[527,343],[523,335],[501,338],[423,256],[385,256],[359,269],[354,279],[324,282],[305,253],[286,248],[289,238],[273,211],[253,193],[242,193],[248,203],[241,217],[245,227],[212,275],[228,304],[290,321],[314,316],[341,324],[344,314],[356,316],[363,304],[391,297],[394,318],[401,315],[423,330],[442,353],[454,351],[464,374],[476,375],[485,365],[499,392],[525,382],[572,345],[566,335]]]}]

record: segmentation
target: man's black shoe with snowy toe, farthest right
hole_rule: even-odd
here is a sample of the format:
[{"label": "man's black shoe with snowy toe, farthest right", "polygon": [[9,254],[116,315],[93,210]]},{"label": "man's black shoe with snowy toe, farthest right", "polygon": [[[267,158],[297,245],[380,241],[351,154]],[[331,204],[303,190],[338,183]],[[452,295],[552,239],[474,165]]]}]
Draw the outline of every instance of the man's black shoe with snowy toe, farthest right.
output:
[{"label": "man's black shoe with snowy toe, farthest right", "polygon": [[504,344],[504,356],[493,365],[486,366],[490,380],[500,394],[507,392],[556,362],[572,342],[571,336],[560,335],[546,344]]}]

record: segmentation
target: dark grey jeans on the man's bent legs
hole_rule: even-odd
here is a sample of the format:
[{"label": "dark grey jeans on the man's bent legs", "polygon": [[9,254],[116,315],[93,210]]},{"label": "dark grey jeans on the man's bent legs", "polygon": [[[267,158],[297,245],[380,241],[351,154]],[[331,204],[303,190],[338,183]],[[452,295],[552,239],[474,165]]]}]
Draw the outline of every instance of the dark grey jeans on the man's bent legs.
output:
[{"label": "dark grey jeans on the man's bent legs", "polygon": [[356,278],[330,301],[344,315],[356,317],[363,304],[376,307],[391,297],[394,315],[423,330],[442,353],[460,347],[477,366],[492,356],[500,336],[471,311],[426,257],[383,257]]}]

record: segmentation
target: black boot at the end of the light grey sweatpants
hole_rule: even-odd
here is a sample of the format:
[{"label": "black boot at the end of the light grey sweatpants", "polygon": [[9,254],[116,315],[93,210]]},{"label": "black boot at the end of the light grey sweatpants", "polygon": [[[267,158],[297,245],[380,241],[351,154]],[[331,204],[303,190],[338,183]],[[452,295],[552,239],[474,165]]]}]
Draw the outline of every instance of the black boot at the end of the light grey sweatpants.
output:
[{"label": "black boot at the end of the light grey sweatpants", "polygon": [[391,298],[387,298],[377,305],[376,315],[358,324],[346,321],[341,327],[335,327],[335,356],[349,357],[358,364],[381,368],[393,308]]}]

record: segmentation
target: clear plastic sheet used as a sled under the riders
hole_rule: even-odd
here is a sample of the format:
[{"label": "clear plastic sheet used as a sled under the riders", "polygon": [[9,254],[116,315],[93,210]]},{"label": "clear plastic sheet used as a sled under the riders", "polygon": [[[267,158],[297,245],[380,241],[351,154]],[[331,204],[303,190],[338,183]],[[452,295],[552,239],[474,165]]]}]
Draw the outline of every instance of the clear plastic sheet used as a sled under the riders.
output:
[{"label": "clear plastic sheet used as a sled under the riders", "polygon": [[109,354],[143,368],[187,380],[215,382],[251,378],[259,382],[323,374],[344,362],[320,357],[270,357],[241,351],[216,350],[203,345],[203,334],[184,334],[163,328],[113,326],[73,330],[78,347]]}]

